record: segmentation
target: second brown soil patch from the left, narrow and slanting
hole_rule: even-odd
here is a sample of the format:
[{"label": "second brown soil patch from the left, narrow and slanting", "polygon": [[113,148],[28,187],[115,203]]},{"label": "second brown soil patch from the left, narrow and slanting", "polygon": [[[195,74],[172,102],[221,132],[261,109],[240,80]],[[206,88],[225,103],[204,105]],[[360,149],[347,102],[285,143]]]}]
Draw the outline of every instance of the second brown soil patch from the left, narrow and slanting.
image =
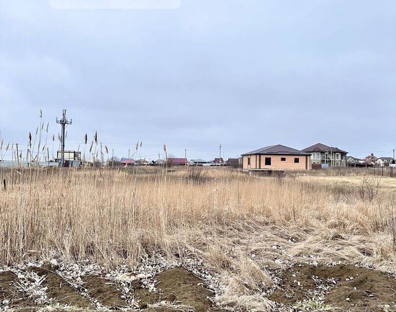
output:
[{"label": "second brown soil patch from the left, narrow and slanting", "polygon": [[60,275],[56,273],[56,267],[45,266],[34,268],[32,271],[39,276],[45,276],[43,285],[47,286],[48,298],[55,301],[76,307],[91,307],[89,300],[71,287]]}]

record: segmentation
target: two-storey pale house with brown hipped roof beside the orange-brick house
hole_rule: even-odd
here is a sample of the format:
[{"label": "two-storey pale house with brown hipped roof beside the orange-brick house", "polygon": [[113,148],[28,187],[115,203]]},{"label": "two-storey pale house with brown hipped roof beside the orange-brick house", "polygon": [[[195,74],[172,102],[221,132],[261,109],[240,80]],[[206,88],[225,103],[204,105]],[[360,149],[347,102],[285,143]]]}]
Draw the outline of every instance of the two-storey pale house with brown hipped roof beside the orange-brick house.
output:
[{"label": "two-storey pale house with brown hipped roof beside the orange-brick house", "polygon": [[302,150],[311,155],[311,164],[328,164],[334,167],[345,167],[347,165],[347,154],[334,146],[316,143]]}]

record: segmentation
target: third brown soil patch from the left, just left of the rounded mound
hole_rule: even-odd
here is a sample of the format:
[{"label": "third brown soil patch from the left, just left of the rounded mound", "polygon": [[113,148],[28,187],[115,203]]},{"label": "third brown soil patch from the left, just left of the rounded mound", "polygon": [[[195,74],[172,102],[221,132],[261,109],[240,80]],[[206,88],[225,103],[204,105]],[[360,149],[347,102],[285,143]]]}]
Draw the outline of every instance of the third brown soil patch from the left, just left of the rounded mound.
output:
[{"label": "third brown soil patch from the left, just left of the rounded mound", "polygon": [[116,283],[98,275],[88,275],[83,279],[88,295],[99,303],[112,309],[127,308],[127,302],[121,297]]}]

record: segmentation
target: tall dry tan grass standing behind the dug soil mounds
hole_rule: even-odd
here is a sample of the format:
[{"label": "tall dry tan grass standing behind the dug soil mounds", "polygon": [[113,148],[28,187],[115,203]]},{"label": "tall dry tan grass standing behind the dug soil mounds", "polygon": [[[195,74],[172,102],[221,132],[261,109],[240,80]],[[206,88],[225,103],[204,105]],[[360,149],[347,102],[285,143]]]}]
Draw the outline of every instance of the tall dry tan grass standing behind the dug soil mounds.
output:
[{"label": "tall dry tan grass standing behind the dug soil mounds", "polygon": [[345,185],[295,177],[228,168],[202,176],[197,183],[184,167],[3,172],[0,261],[56,256],[113,267],[143,254],[196,257],[228,285],[219,300],[243,296],[247,309],[269,304],[254,293],[285,261],[312,255],[396,273],[396,199],[383,181],[365,200]]}]

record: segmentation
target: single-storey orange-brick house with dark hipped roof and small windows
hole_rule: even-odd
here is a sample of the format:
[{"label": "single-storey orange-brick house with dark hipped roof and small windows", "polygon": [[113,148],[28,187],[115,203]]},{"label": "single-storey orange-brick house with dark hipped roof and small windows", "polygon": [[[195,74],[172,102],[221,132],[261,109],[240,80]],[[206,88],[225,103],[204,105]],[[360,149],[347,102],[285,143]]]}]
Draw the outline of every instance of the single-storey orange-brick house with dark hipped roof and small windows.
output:
[{"label": "single-storey orange-brick house with dark hipped roof and small windows", "polygon": [[309,170],[310,154],[285,145],[270,145],[242,154],[244,170]]}]

